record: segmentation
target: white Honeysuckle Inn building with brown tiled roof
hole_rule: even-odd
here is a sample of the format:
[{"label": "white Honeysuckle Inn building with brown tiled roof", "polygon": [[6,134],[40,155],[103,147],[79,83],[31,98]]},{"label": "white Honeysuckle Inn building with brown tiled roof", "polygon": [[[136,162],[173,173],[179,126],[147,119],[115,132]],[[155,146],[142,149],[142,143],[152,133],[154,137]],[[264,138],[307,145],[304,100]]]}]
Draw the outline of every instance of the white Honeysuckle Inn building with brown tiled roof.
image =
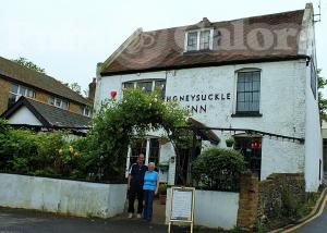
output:
[{"label": "white Honeysuckle Inn building with brown tiled roof", "polygon": [[[226,138],[233,137],[234,148],[261,180],[304,173],[306,191],[316,191],[323,151],[314,33],[311,3],[234,21],[204,17],[189,26],[140,28],[98,64],[95,108],[112,98],[110,93],[120,99],[123,88],[149,94],[164,87],[162,97],[189,108],[198,124],[249,130],[213,130],[219,138],[214,144],[226,147]],[[249,134],[253,131],[262,133]],[[177,157],[170,143],[149,133],[130,147],[128,168],[140,152],[158,164],[162,182],[185,182],[190,151]]]}]

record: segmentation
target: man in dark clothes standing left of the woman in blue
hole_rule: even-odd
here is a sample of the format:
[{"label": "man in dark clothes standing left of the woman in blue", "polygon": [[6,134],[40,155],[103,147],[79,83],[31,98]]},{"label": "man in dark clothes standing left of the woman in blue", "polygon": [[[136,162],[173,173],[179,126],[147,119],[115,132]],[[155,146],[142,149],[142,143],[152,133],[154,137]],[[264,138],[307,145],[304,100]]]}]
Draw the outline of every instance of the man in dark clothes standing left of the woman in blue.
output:
[{"label": "man in dark clothes standing left of the woman in blue", "polygon": [[147,167],[144,165],[144,155],[140,154],[137,162],[133,163],[128,179],[129,188],[129,219],[133,218],[134,201],[137,197],[137,218],[142,218],[143,211],[143,183],[144,174],[147,171]]}]

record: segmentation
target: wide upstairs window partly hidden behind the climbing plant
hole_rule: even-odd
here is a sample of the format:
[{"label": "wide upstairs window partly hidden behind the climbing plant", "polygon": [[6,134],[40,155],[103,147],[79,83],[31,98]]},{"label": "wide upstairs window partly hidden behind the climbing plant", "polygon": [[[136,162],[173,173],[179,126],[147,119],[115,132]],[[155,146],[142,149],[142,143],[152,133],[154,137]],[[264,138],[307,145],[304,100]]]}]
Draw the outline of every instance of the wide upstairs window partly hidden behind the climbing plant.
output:
[{"label": "wide upstairs window partly hidden behind the climbing plant", "polygon": [[123,88],[141,88],[147,95],[150,95],[156,89],[161,89],[161,98],[165,99],[166,81],[154,79],[154,81],[132,81],[123,83]]}]

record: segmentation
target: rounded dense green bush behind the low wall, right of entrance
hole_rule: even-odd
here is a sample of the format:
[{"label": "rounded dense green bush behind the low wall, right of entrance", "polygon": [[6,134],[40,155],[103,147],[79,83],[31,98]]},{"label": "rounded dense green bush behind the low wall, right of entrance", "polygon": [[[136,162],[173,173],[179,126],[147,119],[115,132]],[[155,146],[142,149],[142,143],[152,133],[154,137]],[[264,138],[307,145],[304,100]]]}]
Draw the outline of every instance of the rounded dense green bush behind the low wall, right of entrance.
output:
[{"label": "rounded dense green bush behind the low wall, right of entrance", "polygon": [[192,177],[198,186],[213,191],[238,191],[244,171],[240,152],[217,147],[205,150],[192,164]]}]

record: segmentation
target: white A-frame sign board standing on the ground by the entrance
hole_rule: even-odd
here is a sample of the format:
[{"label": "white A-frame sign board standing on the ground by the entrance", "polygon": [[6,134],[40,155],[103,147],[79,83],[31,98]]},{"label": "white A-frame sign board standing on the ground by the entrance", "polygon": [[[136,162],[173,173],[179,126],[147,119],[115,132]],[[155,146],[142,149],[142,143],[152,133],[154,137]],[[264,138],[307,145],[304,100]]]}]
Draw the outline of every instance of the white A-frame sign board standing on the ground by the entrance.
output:
[{"label": "white A-frame sign board standing on the ground by the entrance", "polygon": [[193,233],[194,224],[194,187],[171,187],[170,191],[170,217],[168,233],[173,222],[187,222]]}]

